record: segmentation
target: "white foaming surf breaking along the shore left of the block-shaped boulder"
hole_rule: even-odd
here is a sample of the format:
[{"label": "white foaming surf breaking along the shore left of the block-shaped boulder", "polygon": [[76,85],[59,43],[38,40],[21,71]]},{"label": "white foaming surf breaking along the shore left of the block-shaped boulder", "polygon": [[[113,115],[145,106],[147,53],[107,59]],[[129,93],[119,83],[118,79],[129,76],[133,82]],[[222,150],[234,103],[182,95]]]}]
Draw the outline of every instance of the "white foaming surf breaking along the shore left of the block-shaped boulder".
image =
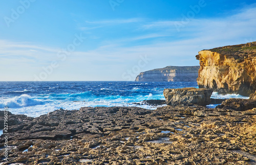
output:
[{"label": "white foaming surf breaking along the shore left of the block-shaped boulder", "polygon": [[[59,94],[60,95],[60,94]],[[74,96],[74,94],[72,94]],[[70,97],[64,95],[66,97]],[[14,114],[25,114],[32,117],[37,117],[42,114],[46,114],[48,112],[52,112],[57,109],[80,109],[81,107],[112,107],[112,106],[125,106],[125,107],[141,107],[145,109],[157,109],[157,107],[161,106],[151,106],[151,105],[136,105],[133,104],[134,102],[141,102],[143,100],[150,100],[150,99],[163,99],[162,95],[155,95],[153,96],[152,93],[146,96],[108,96],[108,97],[102,97],[102,98],[89,98],[86,101],[80,100],[80,101],[67,101],[63,98],[63,100],[55,100],[54,98],[48,97],[48,100],[42,100],[44,97],[39,98],[32,98],[28,95],[22,95],[20,97],[15,97],[13,99],[7,99],[6,102],[3,104],[0,102],[0,108],[4,108],[4,106],[8,106],[8,110]],[[17,104],[17,102],[20,102],[20,100],[23,100],[22,104]],[[13,104],[13,105],[11,105]]]}]

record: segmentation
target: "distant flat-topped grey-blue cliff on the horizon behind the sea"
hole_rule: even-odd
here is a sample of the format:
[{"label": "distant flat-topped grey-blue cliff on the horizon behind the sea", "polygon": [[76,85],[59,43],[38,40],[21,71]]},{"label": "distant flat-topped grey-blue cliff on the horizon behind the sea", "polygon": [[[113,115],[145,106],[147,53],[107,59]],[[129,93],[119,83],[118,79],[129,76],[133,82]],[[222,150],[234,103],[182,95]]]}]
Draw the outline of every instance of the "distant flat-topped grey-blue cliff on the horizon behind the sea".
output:
[{"label": "distant flat-topped grey-blue cliff on the horizon behind the sea", "polygon": [[166,66],[164,68],[141,72],[135,81],[197,81],[200,66]]}]

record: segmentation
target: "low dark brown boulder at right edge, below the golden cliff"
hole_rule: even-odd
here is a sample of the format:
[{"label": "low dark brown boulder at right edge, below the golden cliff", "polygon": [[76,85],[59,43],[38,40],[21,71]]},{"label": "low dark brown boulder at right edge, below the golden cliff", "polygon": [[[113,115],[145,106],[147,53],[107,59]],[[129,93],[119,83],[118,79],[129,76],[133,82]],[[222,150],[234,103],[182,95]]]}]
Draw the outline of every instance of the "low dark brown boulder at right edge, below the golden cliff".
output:
[{"label": "low dark brown boulder at right edge, below the golden cliff", "polygon": [[246,110],[256,108],[256,100],[228,99],[222,102],[222,104],[218,105],[216,108],[246,111]]}]

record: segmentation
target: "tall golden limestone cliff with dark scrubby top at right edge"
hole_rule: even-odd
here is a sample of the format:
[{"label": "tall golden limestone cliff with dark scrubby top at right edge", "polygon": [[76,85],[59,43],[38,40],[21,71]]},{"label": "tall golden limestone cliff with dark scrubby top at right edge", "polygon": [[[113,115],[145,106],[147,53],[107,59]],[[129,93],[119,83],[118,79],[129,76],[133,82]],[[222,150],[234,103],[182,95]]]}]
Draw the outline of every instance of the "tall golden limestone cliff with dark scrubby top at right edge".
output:
[{"label": "tall golden limestone cliff with dark scrubby top at right edge", "polygon": [[256,90],[256,42],[203,50],[196,57],[199,87],[244,96]]}]

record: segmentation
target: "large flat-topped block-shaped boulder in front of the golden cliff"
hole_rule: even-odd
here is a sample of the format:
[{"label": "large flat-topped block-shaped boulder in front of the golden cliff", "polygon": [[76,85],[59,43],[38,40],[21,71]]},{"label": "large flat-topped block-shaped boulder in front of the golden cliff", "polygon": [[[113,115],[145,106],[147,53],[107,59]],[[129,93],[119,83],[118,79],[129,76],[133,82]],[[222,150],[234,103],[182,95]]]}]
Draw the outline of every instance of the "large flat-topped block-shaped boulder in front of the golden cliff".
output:
[{"label": "large flat-topped block-shaped boulder in front of the golden cliff", "polygon": [[212,90],[204,88],[179,88],[179,89],[164,89],[163,95],[167,105],[180,104],[210,104],[210,96]]}]

